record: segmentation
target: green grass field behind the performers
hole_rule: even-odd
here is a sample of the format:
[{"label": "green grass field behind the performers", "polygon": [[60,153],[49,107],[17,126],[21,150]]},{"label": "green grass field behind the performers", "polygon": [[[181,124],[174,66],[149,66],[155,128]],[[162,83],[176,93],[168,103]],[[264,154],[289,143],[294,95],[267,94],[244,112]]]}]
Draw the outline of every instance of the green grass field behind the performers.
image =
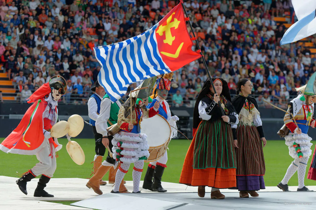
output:
[{"label": "green grass field behind the performers", "polygon": [[[57,158],[57,170],[54,174],[54,178],[76,177],[86,179],[91,174],[91,169],[93,167],[91,162],[93,161],[95,154],[94,139],[73,138],[72,140],[77,141],[80,144],[85,153],[86,161],[81,166],[74,163],[66,151],[67,140],[59,139],[58,142],[63,145],[63,148],[58,152],[59,157]],[[0,139],[0,141],[3,141],[3,138]],[[182,165],[189,145],[190,141],[188,140],[174,139],[170,142],[167,168],[165,169],[162,181],[174,183],[179,182]],[[314,146],[312,146],[312,150],[314,150]],[[283,179],[289,164],[293,160],[289,156],[289,150],[284,144],[284,140],[268,141],[267,145],[264,147],[264,157],[266,168],[264,176],[265,185],[276,186]],[[18,177],[16,172],[22,174],[38,162],[35,155],[16,155],[6,154],[4,152],[0,152],[0,160],[0,175],[11,177]],[[312,157],[309,159],[306,171],[308,171],[311,160]],[[147,163],[144,166],[144,173],[142,174],[143,177],[146,169]],[[105,177],[105,180],[106,179],[107,176]],[[124,179],[132,180],[132,168],[130,168],[130,171],[126,174]],[[294,174],[293,178],[289,181],[289,185],[298,185],[297,174]],[[316,182],[305,178],[305,185],[316,185]]]}]

